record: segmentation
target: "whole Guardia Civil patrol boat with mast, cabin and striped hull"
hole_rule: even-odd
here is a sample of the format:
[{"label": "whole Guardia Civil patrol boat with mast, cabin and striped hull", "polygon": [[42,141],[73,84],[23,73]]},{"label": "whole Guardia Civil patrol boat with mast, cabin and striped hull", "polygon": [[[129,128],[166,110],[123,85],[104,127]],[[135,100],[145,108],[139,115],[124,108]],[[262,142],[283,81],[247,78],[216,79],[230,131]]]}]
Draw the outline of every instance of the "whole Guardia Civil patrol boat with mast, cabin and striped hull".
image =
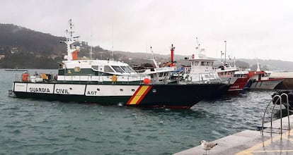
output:
[{"label": "whole Guardia Civil patrol boat with mast, cabin and striped hull", "polygon": [[67,56],[60,63],[58,74],[16,76],[15,97],[59,101],[142,107],[189,109],[209,97],[222,83],[152,83],[149,75],[139,75],[127,63],[114,60],[81,60],[78,37],[73,37],[72,23],[64,41]]}]

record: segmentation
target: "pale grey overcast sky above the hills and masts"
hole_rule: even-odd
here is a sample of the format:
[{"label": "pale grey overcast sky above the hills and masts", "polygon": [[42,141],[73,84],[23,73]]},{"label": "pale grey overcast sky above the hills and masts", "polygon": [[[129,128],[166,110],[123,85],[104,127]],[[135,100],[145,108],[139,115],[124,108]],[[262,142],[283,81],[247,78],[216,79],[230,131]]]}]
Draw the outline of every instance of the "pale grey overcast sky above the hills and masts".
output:
[{"label": "pale grey overcast sky above the hills and masts", "polygon": [[[209,57],[293,61],[293,1],[257,0],[1,0],[0,23],[65,36],[104,49],[192,55],[196,40]],[[92,39],[91,39],[92,35]]]}]

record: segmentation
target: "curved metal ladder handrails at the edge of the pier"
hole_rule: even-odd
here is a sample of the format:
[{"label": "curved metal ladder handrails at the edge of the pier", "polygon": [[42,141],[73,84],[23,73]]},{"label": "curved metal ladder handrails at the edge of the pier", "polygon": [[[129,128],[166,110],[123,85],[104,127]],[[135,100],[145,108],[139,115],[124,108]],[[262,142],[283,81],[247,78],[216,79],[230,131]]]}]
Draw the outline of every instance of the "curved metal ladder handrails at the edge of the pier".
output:
[{"label": "curved metal ladder handrails at the edge of the pier", "polygon": [[[272,106],[272,112],[271,112],[271,116],[270,116],[270,134],[272,135],[272,114],[273,114],[273,111],[275,109],[275,106],[277,103],[280,103],[280,120],[281,120],[281,128],[278,128],[280,129],[280,134],[282,135],[282,97],[285,96],[286,97],[286,103],[287,103],[287,118],[288,118],[288,130],[290,130],[290,118],[289,118],[289,97],[288,97],[288,94],[285,94],[285,93],[282,93],[281,95],[275,95],[275,97],[272,97],[272,100],[268,103],[268,106],[265,108],[265,112],[263,113],[263,124],[265,122],[265,113],[268,111],[268,107],[270,106],[270,103],[273,104],[273,100],[274,99],[277,99],[275,101],[275,104],[274,106]],[[260,132],[262,132],[262,135],[263,135],[263,132],[264,132],[264,127],[262,125],[262,128],[260,129]]]}]

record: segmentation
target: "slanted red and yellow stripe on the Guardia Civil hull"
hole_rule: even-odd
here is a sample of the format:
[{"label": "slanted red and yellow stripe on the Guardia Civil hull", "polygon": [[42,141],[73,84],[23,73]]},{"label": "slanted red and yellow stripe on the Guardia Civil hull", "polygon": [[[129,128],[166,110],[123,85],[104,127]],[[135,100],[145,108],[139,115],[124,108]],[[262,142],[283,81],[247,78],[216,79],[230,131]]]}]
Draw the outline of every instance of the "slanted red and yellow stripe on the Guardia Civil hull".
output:
[{"label": "slanted red and yellow stripe on the Guardia Civil hull", "polygon": [[127,102],[127,104],[139,104],[139,102],[142,101],[144,96],[149,92],[149,89],[151,89],[151,86],[149,85],[140,86],[139,89],[137,89],[137,92],[135,92]]}]

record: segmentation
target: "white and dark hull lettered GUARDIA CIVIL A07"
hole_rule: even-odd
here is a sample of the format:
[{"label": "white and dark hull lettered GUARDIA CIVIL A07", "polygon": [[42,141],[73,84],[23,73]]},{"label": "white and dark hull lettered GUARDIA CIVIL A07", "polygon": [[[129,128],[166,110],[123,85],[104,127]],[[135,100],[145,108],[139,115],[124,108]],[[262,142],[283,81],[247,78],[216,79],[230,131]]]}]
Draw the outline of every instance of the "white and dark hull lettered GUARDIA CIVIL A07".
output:
[{"label": "white and dark hull lettered GUARDIA CIVIL A07", "polygon": [[13,82],[20,98],[77,101],[103,105],[189,109],[210,94],[224,91],[225,84],[193,85],[97,85]]}]

